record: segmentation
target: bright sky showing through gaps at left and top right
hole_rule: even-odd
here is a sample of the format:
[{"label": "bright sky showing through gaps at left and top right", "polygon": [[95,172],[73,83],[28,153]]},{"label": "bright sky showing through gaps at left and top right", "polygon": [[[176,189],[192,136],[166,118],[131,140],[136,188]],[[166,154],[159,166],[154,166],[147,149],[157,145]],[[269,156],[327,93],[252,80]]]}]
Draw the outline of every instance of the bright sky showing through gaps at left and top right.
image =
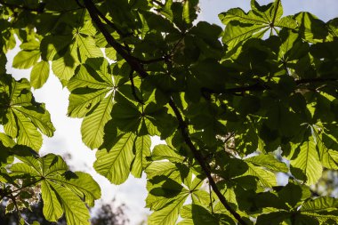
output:
[{"label": "bright sky showing through gaps at left and top right", "polygon": [[[270,1],[263,0],[260,3],[269,3]],[[218,20],[218,13],[225,12],[229,8],[241,7],[245,11],[249,10],[249,0],[200,0],[201,15],[199,20],[207,20],[211,23],[216,23],[221,26]],[[294,14],[296,12],[307,11],[317,15],[321,20],[330,20],[338,16],[338,1],[337,0],[284,0],[284,12],[286,14]],[[223,28],[223,26],[221,26]],[[7,71],[12,73],[14,77],[29,76],[29,70],[13,69],[12,58],[16,49],[7,56],[8,63]],[[81,119],[68,118],[68,91],[62,89],[59,80],[51,75],[42,89],[34,91],[36,101],[44,102],[46,108],[52,115],[52,123],[56,128],[56,132],[52,138],[44,137],[44,145],[40,151],[42,155],[47,153],[70,154],[72,160],[68,162],[76,170],[91,173],[95,181],[101,186],[102,199],[109,203],[114,197],[118,203],[125,203],[128,207],[127,216],[130,224],[139,224],[146,219],[148,209],[145,209],[144,199],[147,197],[145,178],[135,179],[131,175],[129,180],[120,186],[115,186],[109,183],[101,175],[98,175],[93,170],[93,162],[95,160],[95,151],[85,147],[81,139],[80,127]]]}]

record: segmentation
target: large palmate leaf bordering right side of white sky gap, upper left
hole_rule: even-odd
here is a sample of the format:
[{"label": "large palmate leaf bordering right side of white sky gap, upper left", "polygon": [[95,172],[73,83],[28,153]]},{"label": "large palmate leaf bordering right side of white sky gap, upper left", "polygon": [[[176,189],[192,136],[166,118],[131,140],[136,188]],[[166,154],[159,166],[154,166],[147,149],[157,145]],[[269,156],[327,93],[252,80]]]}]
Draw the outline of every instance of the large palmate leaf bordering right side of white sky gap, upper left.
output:
[{"label": "large palmate leaf bordering right side of white sky gap, upper left", "polygon": [[115,96],[109,63],[106,59],[88,59],[77,68],[76,76],[68,82],[68,115],[84,117],[81,133],[84,144],[91,149],[103,142],[104,126],[110,120]]}]

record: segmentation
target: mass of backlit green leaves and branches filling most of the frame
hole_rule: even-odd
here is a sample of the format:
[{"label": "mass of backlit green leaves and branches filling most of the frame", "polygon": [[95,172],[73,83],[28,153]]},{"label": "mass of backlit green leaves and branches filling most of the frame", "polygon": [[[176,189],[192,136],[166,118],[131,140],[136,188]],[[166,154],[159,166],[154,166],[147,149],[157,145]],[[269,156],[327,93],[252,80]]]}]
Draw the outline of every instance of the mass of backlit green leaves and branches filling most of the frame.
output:
[{"label": "mass of backlit green leaves and branches filling most of the frame", "polygon": [[[83,118],[83,141],[97,149],[95,170],[115,184],[147,174],[150,225],[179,215],[179,224],[338,222],[337,200],[309,188],[338,168],[338,19],[283,17],[280,0],[222,12],[224,29],[194,23],[197,0],[0,4],[7,211],[29,207],[25,189],[41,187],[47,220],[89,224],[84,203],[101,195],[61,157],[37,156],[54,128],[30,89],[52,68],[71,92],[68,116]],[[12,66],[32,68],[30,82],[5,74],[15,36]],[[166,144],[150,150],[154,135]]]}]

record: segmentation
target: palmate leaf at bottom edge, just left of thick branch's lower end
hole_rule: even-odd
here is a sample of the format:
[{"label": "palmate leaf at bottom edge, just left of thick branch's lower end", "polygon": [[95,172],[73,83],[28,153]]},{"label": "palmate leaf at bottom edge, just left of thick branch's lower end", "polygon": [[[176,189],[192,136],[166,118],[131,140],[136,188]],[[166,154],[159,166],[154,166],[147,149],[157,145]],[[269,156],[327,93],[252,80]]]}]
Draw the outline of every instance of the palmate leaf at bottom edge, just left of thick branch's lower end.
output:
[{"label": "palmate leaf at bottom edge, just left of thick branch's lower end", "polygon": [[[176,164],[173,171],[168,170],[170,167],[170,162],[153,162],[146,170],[149,179],[146,203],[154,211],[149,217],[149,224],[175,224],[188,197],[195,201],[205,197],[200,193],[203,180],[197,177],[192,179],[186,165]],[[152,173],[154,171],[156,173]]]}]

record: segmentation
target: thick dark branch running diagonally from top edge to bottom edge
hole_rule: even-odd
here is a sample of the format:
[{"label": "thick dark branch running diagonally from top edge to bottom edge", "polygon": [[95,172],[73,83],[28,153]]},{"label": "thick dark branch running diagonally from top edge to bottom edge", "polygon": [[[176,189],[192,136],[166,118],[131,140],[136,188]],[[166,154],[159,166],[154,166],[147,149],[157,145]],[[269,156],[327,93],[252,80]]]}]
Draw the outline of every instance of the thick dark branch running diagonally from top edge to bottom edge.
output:
[{"label": "thick dark branch running diagonally from top edge to bottom edge", "polygon": [[[115,38],[113,36],[110,36],[109,31],[105,28],[105,26],[101,22],[98,14],[95,10],[96,7],[93,4],[93,2],[91,0],[84,0],[84,6],[87,8],[93,22],[101,30],[101,33],[103,34],[103,36],[105,36],[107,42],[117,51],[117,53],[119,53],[127,61],[127,63],[130,65],[130,67],[135,72],[137,72],[139,74],[139,76],[141,76],[141,77],[149,76],[147,71],[144,70],[144,68],[142,67],[141,62],[139,60],[137,60],[136,58],[134,58],[132,55],[130,55],[128,52],[125,52],[123,46],[121,44],[117,43],[117,41],[115,40]],[[179,121],[179,129],[181,130],[181,134],[184,138],[184,141],[188,145],[188,147],[191,150],[193,156],[197,159],[198,164],[201,165],[203,172],[205,173],[210,185],[212,186],[214,193],[220,199],[221,204],[224,205],[224,207],[229,211],[229,213],[231,213],[240,224],[246,225],[246,222],[241,218],[241,216],[234,209],[232,209],[230,207],[230,205],[228,204],[225,197],[221,194],[220,189],[218,189],[215,181],[213,181],[212,174],[209,171],[209,168],[207,167],[207,165],[205,165],[205,161],[203,160],[201,153],[195,148],[195,146],[193,145],[193,143],[192,143],[192,141],[189,137],[189,132],[188,132],[188,129],[187,129],[188,127],[185,124],[183,118],[181,117],[181,112],[176,107],[175,103],[173,102],[173,99],[169,100],[169,105],[170,105],[171,108],[173,108],[173,112],[174,112],[177,120]]]}]

